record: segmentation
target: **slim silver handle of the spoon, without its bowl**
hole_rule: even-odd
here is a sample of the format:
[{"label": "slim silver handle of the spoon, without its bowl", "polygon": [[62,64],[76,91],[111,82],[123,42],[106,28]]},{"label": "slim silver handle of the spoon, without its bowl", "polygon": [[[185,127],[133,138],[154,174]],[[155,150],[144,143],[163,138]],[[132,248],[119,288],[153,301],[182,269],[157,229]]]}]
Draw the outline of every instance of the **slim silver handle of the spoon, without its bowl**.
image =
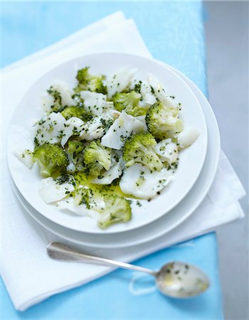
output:
[{"label": "slim silver handle of the spoon, without its bowl", "polygon": [[146,272],[153,276],[157,275],[156,271],[153,271],[144,267],[139,267],[137,265],[129,265],[129,263],[118,262],[115,260],[105,259],[102,257],[96,257],[94,255],[85,255],[85,253],[75,250],[72,247],[68,247],[68,245],[65,245],[61,242],[49,243],[47,247],[47,253],[49,257],[55,260],[77,261],[77,262],[85,262],[85,260],[94,260],[96,262],[100,262],[105,265],[114,265],[116,267],[120,267],[123,269]]}]

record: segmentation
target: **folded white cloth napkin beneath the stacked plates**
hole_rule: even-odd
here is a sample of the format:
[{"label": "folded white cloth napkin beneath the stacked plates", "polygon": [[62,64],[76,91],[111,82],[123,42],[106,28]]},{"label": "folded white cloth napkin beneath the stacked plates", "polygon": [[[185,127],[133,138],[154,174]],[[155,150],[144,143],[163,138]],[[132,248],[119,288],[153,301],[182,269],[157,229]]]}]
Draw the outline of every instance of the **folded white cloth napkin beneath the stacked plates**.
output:
[{"label": "folded white cloth napkin beneath the stacked plates", "polygon": [[[4,141],[18,100],[36,79],[65,60],[97,51],[150,56],[134,21],[126,20],[122,13],[117,12],[10,65],[2,71],[1,129]],[[1,163],[4,209],[1,211],[1,276],[16,309],[25,310],[53,294],[90,282],[112,270],[101,265],[68,265],[49,259],[46,245],[49,241],[60,239],[38,225],[16,201],[4,150],[1,153]],[[85,247],[85,250],[117,260],[135,260],[163,247],[206,233],[223,223],[242,218],[243,211],[238,199],[244,195],[243,186],[221,152],[218,172],[208,196],[196,212],[178,228],[143,245],[117,250],[90,250]]]}]

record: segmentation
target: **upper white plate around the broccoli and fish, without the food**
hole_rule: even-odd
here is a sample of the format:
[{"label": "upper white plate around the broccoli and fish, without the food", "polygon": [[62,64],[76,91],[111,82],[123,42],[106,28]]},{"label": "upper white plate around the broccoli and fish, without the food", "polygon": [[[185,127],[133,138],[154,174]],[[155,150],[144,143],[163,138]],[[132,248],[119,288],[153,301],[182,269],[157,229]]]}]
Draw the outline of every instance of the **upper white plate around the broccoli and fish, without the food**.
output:
[{"label": "upper white plate around the broccoli and fish, without the food", "polygon": [[[33,119],[40,119],[43,115],[41,110],[41,96],[55,80],[68,82],[75,86],[75,74],[79,68],[90,65],[92,73],[115,73],[119,68],[137,68],[137,79],[144,80],[148,74],[156,76],[164,85],[169,95],[174,95],[176,100],[181,102],[181,119],[186,127],[194,127],[200,132],[200,136],[189,148],[181,151],[179,167],[169,186],[164,188],[160,196],[152,201],[141,201],[142,206],[132,207],[132,220],[129,223],[112,225],[107,230],[100,230],[95,220],[89,217],[82,217],[65,213],[58,210],[54,205],[48,205],[38,195],[38,186],[41,176],[36,166],[29,170],[16,156],[14,150],[20,147],[25,148],[28,139],[33,139]],[[11,176],[23,198],[49,220],[63,227],[85,233],[120,233],[127,230],[139,228],[142,225],[152,223],[162,215],[174,208],[194,186],[198,178],[207,149],[206,121],[201,106],[196,96],[188,85],[172,72],[170,68],[156,60],[142,58],[136,55],[124,53],[97,53],[85,55],[67,63],[63,63],[43,75],[26,92],[14,112],[9,128],[8,162]]]}]

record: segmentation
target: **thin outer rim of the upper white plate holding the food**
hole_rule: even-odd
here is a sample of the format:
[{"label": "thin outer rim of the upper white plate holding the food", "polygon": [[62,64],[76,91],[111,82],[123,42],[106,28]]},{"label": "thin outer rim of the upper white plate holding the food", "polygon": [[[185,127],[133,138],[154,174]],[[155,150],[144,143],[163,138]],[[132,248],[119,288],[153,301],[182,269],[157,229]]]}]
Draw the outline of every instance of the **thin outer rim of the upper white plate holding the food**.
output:
[{"label": "thin outer rim of the upper white plate holding the food", "polygon": [[[104,55],[110,55],[110,54],[113,54],[113,55],[125,55],[125,56],[131,56],[131,57],[135,57],[135,58],[139,58],[139,59],[142,58],[144,60],[152,61],[154,63],[157,63],[157,64],[161,65],[161,67],[168,69],[171,73],[174,73],[174,75],[176,75],[176,78],[179,78],[181,80],[181,82],[185,82],[178,73],[174,72],[174,68],[171,68],[170,65],[167,65],[165,63],[161,63],[161,61],[155,60],[153,58],[145,58],[145,57],[141,57],[139,55],[133,55],[133,54],[127,54],[127,53],[94,53],[94,54],[90,54],[90,55],[81,55],[78,58],[73,58],[73,59],[70,59],[70,60],[66,61],[65,63],[61,63],[60,65],[57,65],[55,68],[49,70],[48,73],[53,73],[53,70],[55,70],[57,68],[60,68],[62,65],[66,65],[68,63],[72,63],[72,64],[73,63],[77,63],[78,60],[83,59],[85,57],[92,57],[92,55],[99,56],[99,55],[103,55],[103,54]],[[46,77],[46,75],[48,73],[46,73],[45,75],[42,75],[36,82],[41,80],[43,77]],[[36,82],[34,82],[33,85],[35,85]],[[31,90],[31,88],[33,87],[33,85],[28,88],[28,90],[23,95],[21,100],[23,100],[26,97],[26,95],[28,94],[29,90]],[[189,87],[189,85],[187,85],[187,86]],[[191,90],[191,87],[189,87],[189,91],[191,91],[191,93],[194,95],[194,97],[196,99],[196,95]],[[21,100],[20,100],[19,103],[21,103]],[[196,99],[196,101],[198,102],[198,99]],[[202,110],[201,105],[200,105],[199,102],[198,102],[198,105],[200,106],[201,113],[203,114],[203,110]],[[18,108],[18,105],[16,106],[16,108]],[[15,112],[14,112],[14,114],[15,114]],[[11,122],[13,121],[13,119],[14,119],[14,115],[11,118]],[[57,219],[54,219],[53,216],[44,215],[42,210],[38,210],[38,208],[33,207],[31,205],[31,203],[29,203],[28,199],[26,199],[26,197],[23,195],[23,193],[21,192],[20,188],[18,188],[17,185],[16,185],[16,187],[18,188],[18,191],[21,193],[23,198],[25,198],[25,200],[28,202],[28,204],[30,204],[34,208],[34,210],[37,210],[45,218],[47,218],[48,220],[51,220],[51,222],[56,223],[57,225],[60,225],[63,228],[68,228],[68,229],[73,230],[73,231],[77,231],[77,232],[81,232],[81,233],[88,233],[88,234],[91,234],[91,235],[93,235],[93,234],[95,234],[95,235],[112,235],[112,234],[119,234],[119,233],[127,233],[129,231],[142,228],[142,227],[144,227],[146,225],[149,225],[150,223],[153,223],[154,221],[160,219],[161,217],[163,217],[164,215],[169,213],[172,209],[174,209],[188,195],[188,193],[191,191],[191,189],[193,188],[194,184],[198,180],[198,177],[200,176],[201,171],[203,169],[203,164],[204,164],[205,159],[206,159],[206,152],[207,152],[207,148],[208,148],[208,132],[207,132],[207,125],[206,125],[206,118],[205,118],[204,114],[203,114],[203,119],[204,119],[204,122],[205,122],[205,129],[204,129],[203,132],[204,132],[205,138],[206,138],[205,139],[205,152],[203,152],[203,156],[202,156],[202,159],[201,159],[201,166],[199,167],[195,178],[193,179],[193,181],[191,181],[191,183],[189,184],[188,188],[186,188],[186,191],[181,196],[179,196],[179,199],[177,201],[175,201],[171,206],[169,206],[169,208],[166,210],[166,212],[164,212],[161,215],[157,216],[157,218],[149,219],[149,220],[144,221],[144,222],[142,221],[141,223],[139,223],[139,225],[134,225],[134,226],[131,225],[131,226],[129,226],[129,228],[127,228],[127,229],[123,228],[122,230],[115,230],[115,229],[112,230],[112,228],[107,229],[107,230],[100,230],[100,229],[96,229],[96,230],[78,230],[77,228],[75,229],[75,228],[72,228],[71,226],[68,227],[68,225],[65,225],[65,223],[63,223],[61,221],[58,221]],[[10,128],[11,128],[11,124],[10,124],[9,129],[8,129],[8,139],[9,139],[9,130],[10,130]],[[10,161],[9,161],[9,157],[11,156],[11,151],[9,149],[11,149],[11,148],[9,147],[8,150],[7,150],[7,162],[8,162],[8,166],[9,166],[9,171],[11,172],[11,177],[15,181],[14,172],[12,171],[11,164],[10,164]],[[15,182],[15,184],[16,184],[16,182]]]}]

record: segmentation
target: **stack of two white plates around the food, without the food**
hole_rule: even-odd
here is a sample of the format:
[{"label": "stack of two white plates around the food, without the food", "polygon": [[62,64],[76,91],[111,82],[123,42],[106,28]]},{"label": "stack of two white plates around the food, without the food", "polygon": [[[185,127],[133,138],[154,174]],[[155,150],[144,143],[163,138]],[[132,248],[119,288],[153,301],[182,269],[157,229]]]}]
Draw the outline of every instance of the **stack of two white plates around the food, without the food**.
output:
[{"label": "stack of two white plates around the food, without the food", "polygon": [[[181,151],[174,181],[152,201],[132,207],[129,223],[112,225],[100,230],[96,221],[64,213],[44,203],[38,195],[41,181],[36,166],[24,167],[14,150],[27,147],[33,132],[33,119],[42,115],[41,95],[54,80],[74,85],[79,68],[90,65],[93,72],[115,73],[119,68],[137,68],[137,79],[151,73],[159,78],[167,92],[181,101],[181,118],[188,127],[195,127],[200,136],[192,146]],[[61,238],[91,247],[127,247],[147,242],[173,230],[188,218],[208,193],[216,174],[220,152],[218,125],[211,106],[191,80],[178,70],[156,60],[123,53],[98,53],[70,60],[43,75],[26,93],[14,113],[9,128],[8,163],[13,187],[23,208],[44,228]]]}]

